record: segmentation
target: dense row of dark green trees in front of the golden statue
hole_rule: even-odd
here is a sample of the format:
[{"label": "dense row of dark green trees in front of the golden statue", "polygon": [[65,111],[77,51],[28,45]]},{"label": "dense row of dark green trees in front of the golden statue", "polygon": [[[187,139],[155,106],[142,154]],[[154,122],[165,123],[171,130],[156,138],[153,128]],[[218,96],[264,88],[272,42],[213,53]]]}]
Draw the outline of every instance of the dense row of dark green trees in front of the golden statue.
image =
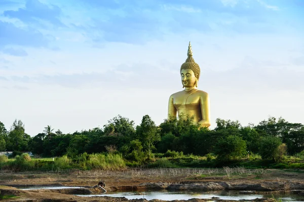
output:
[{"label": "dense row of dark green trees in front of the golden statue", "polygon": [[234,160],[249,154],[280,160],[304,150],[304,126],[284,118],[269,117],[257,125],[242,126],[237,120],[217,118],[213,130],[199,128],[192,117],[172,117],[159,126],[144,115],[141,123],[118,115],[102,128],[72,134],[54,132],[47,126],[34,137],[25,133],[21,120],[7,130],[0,122],[0,151],[31,151],[43,157],[67,155],[77,159],[83,153],[121,153],[127,160],[144,162],[155,154],[168,151],[183,154],[214,155]]}]

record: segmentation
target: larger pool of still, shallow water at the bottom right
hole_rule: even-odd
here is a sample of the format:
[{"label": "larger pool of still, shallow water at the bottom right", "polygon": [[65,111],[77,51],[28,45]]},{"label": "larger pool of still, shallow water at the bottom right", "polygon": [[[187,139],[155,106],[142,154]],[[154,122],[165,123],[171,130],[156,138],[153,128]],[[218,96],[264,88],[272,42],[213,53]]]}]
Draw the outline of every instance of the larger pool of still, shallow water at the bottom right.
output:
[{"label": "larger pool of still, shallow water at the bottom right", "polygon": [[[240,200],[240,199],[255,199],[262,197],[273,197],[271,194],[239,194],[237,190],[229,191],[208,191],[208,192],[189,192],[189,191],[143,191],[143,192],[106,192],[104,194],[92,194],[92,195],[78,195],[78,196],[111,196],[111,197],[126,197],[128,199],[145,198],[161,199],[161,200],[188,200],[191,198],[212,198],[218,197],[220,199]],[[282,199],[282,201],[304,201],[304,196],[299,194],[274,194],[276,199]]]}]

